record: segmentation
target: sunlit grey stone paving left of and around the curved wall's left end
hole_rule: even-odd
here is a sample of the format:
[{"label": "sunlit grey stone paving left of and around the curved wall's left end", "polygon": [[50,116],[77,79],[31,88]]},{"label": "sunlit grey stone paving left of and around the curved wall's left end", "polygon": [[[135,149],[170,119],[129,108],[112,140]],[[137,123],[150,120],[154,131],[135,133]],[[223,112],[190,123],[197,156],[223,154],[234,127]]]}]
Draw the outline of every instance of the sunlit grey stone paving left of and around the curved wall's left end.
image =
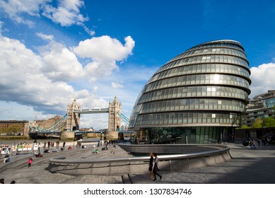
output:
[{"label": "sunlit grey stone paving left of and around the curved wall's left end", "polygon": [[[0,177],[5,179],[5,183],[15,180],[18,184],[57,184],[57,183],[122,183],[121,176],[70,176],[59,173],[49,173],[46,170],[49,165],[49,158],[57,156],[65,156],[66,158],[114,158],[129,156],[122,148],[109,146],[108,150],[101,151],[99,154],[95,153],[93,145],[88,145],[86,148],[74,148],[73,150],[42,153],[42,158],[35,158],[33,154],[24,154],[19,156],[11,156],[10,163],[1,163]],[[115,151],[115,154],[111,151]],[[28,158],[33,158],[31,168],[28,168]]]}]

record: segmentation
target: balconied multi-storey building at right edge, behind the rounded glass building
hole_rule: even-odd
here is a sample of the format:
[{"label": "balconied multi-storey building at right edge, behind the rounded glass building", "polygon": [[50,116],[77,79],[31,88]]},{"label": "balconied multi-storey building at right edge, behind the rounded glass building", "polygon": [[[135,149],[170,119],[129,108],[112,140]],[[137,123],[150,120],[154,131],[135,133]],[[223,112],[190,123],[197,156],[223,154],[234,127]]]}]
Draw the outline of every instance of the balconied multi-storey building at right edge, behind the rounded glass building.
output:
[{"label": "balconied multi-storey building at right edge, behind the rounded glass building", "polygon": [[245,115],[242,125],[251,127],[256,118],[264,120],[265,117],[274,117],[275,91],[271,90],[267,93],[256,95],[249,100],[246,106]]}]

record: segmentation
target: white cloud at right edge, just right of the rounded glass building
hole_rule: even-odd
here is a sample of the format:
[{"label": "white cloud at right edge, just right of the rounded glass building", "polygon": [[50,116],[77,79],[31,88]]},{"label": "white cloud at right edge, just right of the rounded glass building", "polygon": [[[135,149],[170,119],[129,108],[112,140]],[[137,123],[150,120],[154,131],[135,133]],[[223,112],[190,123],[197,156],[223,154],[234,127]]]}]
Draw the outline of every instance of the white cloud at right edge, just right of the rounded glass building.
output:
[{"label": "white cloud at right edge, just right of the rounded glass building", "polygon": [[252,84],[250,86],[252,94],[250,95],[250,98],[255,95],[267,93],[269,90],[274,90],[275,63],[261,64],[257,67],[252,67],[250,70],[250,78],[252,80]]}]

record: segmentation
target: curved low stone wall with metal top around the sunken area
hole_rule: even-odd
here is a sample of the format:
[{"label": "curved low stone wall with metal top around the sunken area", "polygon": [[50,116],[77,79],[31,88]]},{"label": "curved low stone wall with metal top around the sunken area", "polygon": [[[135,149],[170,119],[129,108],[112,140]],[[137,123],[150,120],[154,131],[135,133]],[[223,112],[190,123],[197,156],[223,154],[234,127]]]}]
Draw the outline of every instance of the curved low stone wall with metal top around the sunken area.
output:
[{"label": "curved low stone wall with metal top around the sunken area", "polygon": [[[121,148],[128,148],[131,150],[129,144],[119,144]],[[150,147],[151,151],[158,151],[158,148],[166,147],[168,145],[139,145]],[[163,146],[163,147],[162,147]],[[170,148],[180,148],[178,144],[170,144]],[[181,144],[182,148],[187,148],[186,144]],[[190,145],[188,145],[189,148]],[[165,154],[158,153],[159,165],[161,170],[189,170],[192,168],[199,168],[206,165],[214,165],[229,161],[232,157],[230,155],[230,148],[223,145],[192,145],[193,148],[199,147],[200,152],[185,153],[185,154]],[[210,149],[209,149],[210,148]],[[205,149],[205,151],[203,151]],[[196,150],[196,149],[194,149]],[[168,151],[168,149],[166,149]],[[148,152],[150,153],[150,151]],[[136,156],[127,158],[105,158],[105,159],[66,159],[65,157],[50,158],[47,170],[52,173],[63,173],[67,175],[124,175],[128,173],[147,173],[149,156]]]}]

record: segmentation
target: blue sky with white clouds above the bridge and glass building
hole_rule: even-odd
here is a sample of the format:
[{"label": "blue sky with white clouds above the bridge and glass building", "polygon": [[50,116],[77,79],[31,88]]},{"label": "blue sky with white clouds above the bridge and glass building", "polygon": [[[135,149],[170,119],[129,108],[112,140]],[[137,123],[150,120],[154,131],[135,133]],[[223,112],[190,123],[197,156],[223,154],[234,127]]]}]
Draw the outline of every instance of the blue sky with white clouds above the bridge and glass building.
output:
[{"label": "blue sky with white clouds above the bridge and glass building", "polygon": [[[254,95],[275,89],[275,1],[0,1],[0,120],[37,120],[117,96],[131,114],[157,69],[194,45],[237,40]],[[81,127],[107,128],[107,115]]]}]

